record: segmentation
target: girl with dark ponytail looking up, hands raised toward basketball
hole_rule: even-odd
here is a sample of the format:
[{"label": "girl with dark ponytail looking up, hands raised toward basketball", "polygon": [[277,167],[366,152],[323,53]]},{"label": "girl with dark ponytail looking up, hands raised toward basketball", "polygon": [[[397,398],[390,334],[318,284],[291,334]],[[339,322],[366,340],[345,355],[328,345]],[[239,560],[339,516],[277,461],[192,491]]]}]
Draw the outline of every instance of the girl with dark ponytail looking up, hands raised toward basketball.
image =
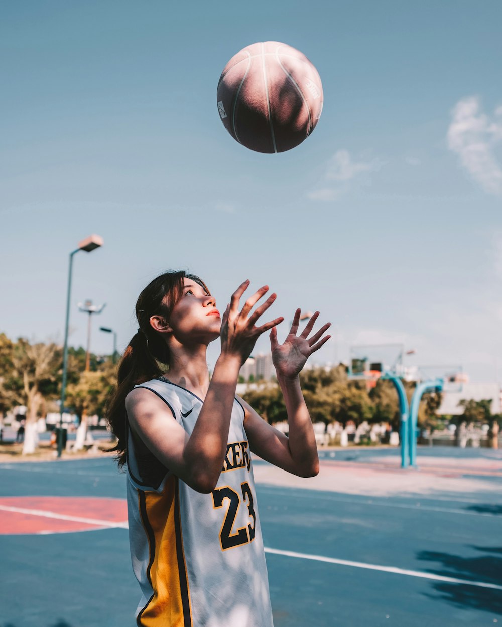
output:
[{"label": "girl with dark ponytail looking up, hands raised toward basketball", "polygon": [[[139,626],[272,627],[251,452],[301,477],[319,472],[298,375],[330,336],[325,324],[309,337],[318,312],[297,335],[297,310],[279,344],[282,317],[255,325],[275,294],[252,312],[268,287],[239,311],[248,285],[222,317],[201,279],[183,271],[154,279],[136,303],[139,328],[119,367],[109,421],[119,466],[127,467]],[[289,438],[235,396],[240,367],[267,330]],[[206,349],[217,337],[222,352],[210,381]]]}]

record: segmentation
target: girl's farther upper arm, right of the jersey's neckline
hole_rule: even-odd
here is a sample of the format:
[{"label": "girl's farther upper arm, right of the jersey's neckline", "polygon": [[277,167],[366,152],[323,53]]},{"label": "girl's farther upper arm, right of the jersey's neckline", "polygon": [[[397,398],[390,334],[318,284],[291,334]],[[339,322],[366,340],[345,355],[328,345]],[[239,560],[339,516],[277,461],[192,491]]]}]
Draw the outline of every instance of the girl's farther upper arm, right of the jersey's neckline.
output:
[{"label": "girl's farther upper arm, right of the jersey's neckline", "polygon": [[238,397],[238,401],[244,408],[244,428],[252,452],[274,466],[297,475],[298,468],[291,457],[287,436],[265,422],[242,398]]}]

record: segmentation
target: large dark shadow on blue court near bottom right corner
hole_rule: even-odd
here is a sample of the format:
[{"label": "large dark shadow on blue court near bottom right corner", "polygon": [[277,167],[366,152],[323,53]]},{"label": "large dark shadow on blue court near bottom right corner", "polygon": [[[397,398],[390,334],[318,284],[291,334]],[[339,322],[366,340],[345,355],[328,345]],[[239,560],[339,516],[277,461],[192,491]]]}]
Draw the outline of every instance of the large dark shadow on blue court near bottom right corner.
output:
[{"label": "large dark shadow on blue court near bottom right corner", "polygon": [[[442,567],[427,569],[427,572],[435,575],[502,585],[502,557],[500,557],[502,549],[478,546],[471,548],[488,555],[459,557],[448,553],[422,551],[417,554],[417,557],[422,561],[442,563]],[[502,613],[502,593],[499,589],[447,582],[435,582],[432,586],[439,593],[439,596],[426,594],[431,599],[441,598],[458,608],[473,608],[495,614]]]}]

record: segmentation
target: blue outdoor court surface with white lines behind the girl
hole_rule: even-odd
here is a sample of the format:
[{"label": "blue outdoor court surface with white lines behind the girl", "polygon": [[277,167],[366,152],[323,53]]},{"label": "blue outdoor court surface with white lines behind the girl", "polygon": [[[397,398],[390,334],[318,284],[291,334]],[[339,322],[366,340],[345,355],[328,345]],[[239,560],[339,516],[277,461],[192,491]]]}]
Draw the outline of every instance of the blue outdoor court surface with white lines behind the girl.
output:
[{"label": "blue outdoor court surface with white lines behind the girl", "polygon": [[[374,496],[343,485],[328,491],[259,483],[275,627],[502,623],[502,455],[424,450],[419,456],[447,460],[455,480],[462,481],[465,464],[466,477],[481,474],[489,489]],[[397,460],[398,453],[326,451],[321,475],[328,467],[336,475],[337,464],[344,472],[378,473],[372,466],[389,456]],[[498,467],[481,466],[486,460]],[[47,524],[33,505],[41,497],[113,505],[121,502],[110,499],[125,496],[124,482],[110,458],[0,464],[0,627],[134,625],[139,587],[120,515],[100,521],[92,510],[60,509],[49,514],[60,532],[29,527],[32,520]],[[32,505],[12,497],[33,497]],[[68,531],[66,523],[87,530]]]}]

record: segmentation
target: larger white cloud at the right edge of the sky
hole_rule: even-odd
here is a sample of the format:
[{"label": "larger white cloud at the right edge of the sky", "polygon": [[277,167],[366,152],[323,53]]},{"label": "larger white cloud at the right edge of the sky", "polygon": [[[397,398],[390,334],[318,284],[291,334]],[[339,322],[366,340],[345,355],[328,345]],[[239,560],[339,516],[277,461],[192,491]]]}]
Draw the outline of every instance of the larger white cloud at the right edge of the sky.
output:
[{"label": "larger white cloud at the right edge of the sky", "polygon": [[479,98],[462,98],[452,111],[447,140],[449,149],[484,191],[502,194],[502,167],[493,151],[502,140],[502,107],[490,120],[481,112]]}]

